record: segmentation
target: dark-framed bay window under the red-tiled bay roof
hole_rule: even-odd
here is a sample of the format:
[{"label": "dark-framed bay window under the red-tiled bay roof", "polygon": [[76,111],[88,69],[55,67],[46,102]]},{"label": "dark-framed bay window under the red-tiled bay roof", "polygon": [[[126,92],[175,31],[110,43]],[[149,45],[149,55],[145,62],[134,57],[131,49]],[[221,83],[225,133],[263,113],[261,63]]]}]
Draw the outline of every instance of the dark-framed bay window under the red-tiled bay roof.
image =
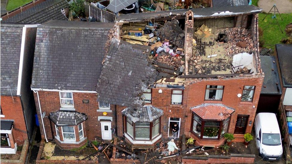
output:
[{"label": "dark-framed bay window under the red-tiled bay roof", "polygon": [[220,139],[228,132],[230,117],[224,120],[207,120],[193,113],[191,132],[200,139]]}]

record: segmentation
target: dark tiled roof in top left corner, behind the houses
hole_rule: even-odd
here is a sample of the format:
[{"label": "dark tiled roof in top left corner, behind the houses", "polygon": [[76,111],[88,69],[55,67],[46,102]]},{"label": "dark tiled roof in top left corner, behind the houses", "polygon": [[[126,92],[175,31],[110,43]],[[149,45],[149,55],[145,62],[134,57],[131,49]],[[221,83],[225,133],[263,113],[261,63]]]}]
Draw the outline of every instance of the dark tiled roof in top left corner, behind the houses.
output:
[{"label": "dark tiled roof in top left corner, behind the houses", "polygon": [[1,22],[40,24],[52,19],[68,20],[61,12],[67,7],[66,0],[46,0]]}]

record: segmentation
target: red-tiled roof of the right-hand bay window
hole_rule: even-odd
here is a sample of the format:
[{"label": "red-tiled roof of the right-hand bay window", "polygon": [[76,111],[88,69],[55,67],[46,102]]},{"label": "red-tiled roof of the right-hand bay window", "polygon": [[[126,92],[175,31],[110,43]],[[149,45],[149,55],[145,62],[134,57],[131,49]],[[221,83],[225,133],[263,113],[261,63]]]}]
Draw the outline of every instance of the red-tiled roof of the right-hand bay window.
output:
[{"label": "red-tiled roof of the right-hand bay window", "polygon": [[223,104],[204,103],[191,108],[191,111],[202,119],[223,120],[230,117],[235,109]]}]

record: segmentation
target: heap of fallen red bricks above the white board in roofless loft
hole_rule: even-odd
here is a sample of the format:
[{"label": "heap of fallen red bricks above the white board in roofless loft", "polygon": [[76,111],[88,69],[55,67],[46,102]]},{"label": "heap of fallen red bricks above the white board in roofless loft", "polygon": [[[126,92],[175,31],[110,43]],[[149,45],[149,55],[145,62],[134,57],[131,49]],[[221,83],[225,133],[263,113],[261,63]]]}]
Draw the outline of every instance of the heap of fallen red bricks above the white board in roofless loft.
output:
[{"label": "heap of fallen red bricks above the white board in roofless loft", "polygon": [[224,30],[227,42],[226,53],[229,56],[242,52],[254,51],[253,37],[250,30],[245,28],[226,28]]}]

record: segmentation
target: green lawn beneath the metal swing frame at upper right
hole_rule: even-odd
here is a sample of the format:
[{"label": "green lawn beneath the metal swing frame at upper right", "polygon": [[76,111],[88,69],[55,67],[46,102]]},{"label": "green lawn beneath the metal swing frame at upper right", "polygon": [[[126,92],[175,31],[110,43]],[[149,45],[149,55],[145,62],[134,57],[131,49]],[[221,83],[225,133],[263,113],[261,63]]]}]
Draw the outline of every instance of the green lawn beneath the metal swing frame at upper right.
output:
[{"label": "green lawn beneath the metal swing frame at upper right", "polygon": [[[279,26],[276,24],[269,24],[270,21],[276,23],[276,20],[272,19],[272,14],[269,14],[265,19],[266,14],[260,13],[258,15],[258,26],[264,30],[263,39],[264,39],[264,47],[266,48],[275,48],[275,44],[280,43],[282,38],[287,38],[285,33],[285,28],[287,24],[292,23],[292,13],[289,14],[281,14],[283,20],[281,20],[279,14],[276,14],[276,18],[280,24],[281,29],[284,33],[281,32]],[[263,20],[264,19],[264,20]],[[269,25],[268,25],[269,24]],[[268,26],[267,26],[268,25]]]}]

